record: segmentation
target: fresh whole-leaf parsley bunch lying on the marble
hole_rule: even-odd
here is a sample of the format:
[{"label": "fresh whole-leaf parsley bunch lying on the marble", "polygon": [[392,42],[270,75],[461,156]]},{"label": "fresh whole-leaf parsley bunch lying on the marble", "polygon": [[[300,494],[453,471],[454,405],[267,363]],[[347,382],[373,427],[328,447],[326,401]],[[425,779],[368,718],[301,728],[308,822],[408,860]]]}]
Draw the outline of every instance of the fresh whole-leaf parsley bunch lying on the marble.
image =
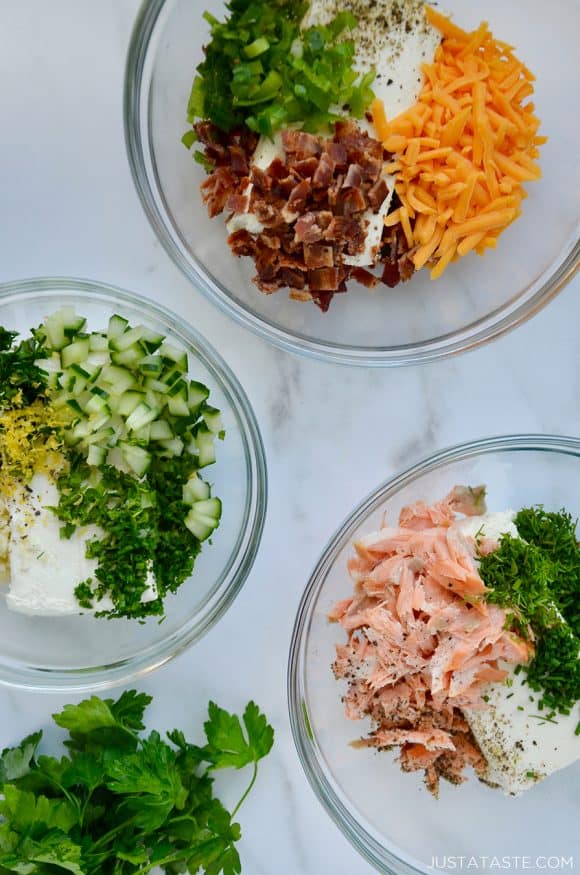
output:
[{"label": "fresh whole-leaf parsley bunch lying on the marble", "polygon": [[[206,744],[179,730],[143,735],[151,697],[93,696],[53,715],[68,730],[68,755],[39,755],[36,732],[0,757],[0,875],[237,875],[235,816],[256,779],[274,731],[250,702],[243,718],[213,702]],[[211,772],[253,765],[230,814],[214,797]]]}]

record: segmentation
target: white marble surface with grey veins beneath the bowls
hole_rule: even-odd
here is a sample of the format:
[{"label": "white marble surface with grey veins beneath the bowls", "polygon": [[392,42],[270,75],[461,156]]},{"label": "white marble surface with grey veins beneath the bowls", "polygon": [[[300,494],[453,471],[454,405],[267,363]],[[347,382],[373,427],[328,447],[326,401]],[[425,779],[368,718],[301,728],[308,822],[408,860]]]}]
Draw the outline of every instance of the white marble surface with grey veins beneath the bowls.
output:
[{"label": "white marble surface with grey veins beneath the bowls", "polygon": [[[418,457],[500,432],[580,433],[580,278],[517,332],[428,367],[337,370],[271,349],[192,292],[141,210],[121,112],[137,7],[0,3],[0,281],[76,275],[162,295],[239,376],[269,463],[262,548],[219,626],[140,686],[155,695],[152,725],[193,731],[209,697],[231,709],[254,697],[275,723],[275,753],[241,818],[244,872],[364,875],[370,867],[310,791],[290,735],[286,660],[302,589],[353,504]],[[0,689],[0,747],[63,701]]]}]

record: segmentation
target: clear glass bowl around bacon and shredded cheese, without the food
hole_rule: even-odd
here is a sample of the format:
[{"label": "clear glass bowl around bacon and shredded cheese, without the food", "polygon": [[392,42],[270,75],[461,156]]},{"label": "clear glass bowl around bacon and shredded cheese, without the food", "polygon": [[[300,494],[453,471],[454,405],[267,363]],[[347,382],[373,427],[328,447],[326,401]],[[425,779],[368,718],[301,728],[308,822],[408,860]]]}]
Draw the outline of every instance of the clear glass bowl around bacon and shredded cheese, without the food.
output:
[{"label": "clear glass bowl around bacon and shredded cheese, without the food", "polygon": [[574,185],[580,117],[570,112],[580,79],[576,0],[445,3],[468,29],[488,20],[536,74],[541,133],[550,138],[542,148],[543,179],[529,186],[523,215],[484,258],[461,259],[435,284],[422,271],[395,289],[351,285],[328,313],[290,300],[286,290],[258,291],[253,262],[235,258],[227,246],[223,216],[208,218],[199,195],[204,172],[180,141],[208,39],[202,11],[223,16],[224,5],[145,0],[129,48],[124,112],[133,178],[155,233],[193,285],[226,313],[293,352],[346,364],[404,365],[498,337],[537,313],[571,278],[580,253]]}]

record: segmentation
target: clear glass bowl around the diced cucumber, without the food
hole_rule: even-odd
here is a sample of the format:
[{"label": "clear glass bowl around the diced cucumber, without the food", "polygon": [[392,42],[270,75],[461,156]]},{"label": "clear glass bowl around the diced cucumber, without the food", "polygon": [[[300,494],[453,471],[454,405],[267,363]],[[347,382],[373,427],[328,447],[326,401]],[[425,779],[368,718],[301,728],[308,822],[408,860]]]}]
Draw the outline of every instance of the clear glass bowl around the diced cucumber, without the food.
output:
[{"label": "clear glass bowl around the diced cucumber, without the food", "polygon": [[130,292],[75,279],[0,286],[0,325],[28,335],[64,304],[100,330],[112,313],[144,324],[186,349],[192,377],[222,410],[226,439],[206,469],[223,515],[192,577],[165,602],[166,616],[137,621],[89,615],[29,617],[0,599],[0,683],[31,690],[98,690],[152,671],[198,641],[231,605],[252,567],[264,523],[266,464],[250,403],[214,349],[183,319]]}]

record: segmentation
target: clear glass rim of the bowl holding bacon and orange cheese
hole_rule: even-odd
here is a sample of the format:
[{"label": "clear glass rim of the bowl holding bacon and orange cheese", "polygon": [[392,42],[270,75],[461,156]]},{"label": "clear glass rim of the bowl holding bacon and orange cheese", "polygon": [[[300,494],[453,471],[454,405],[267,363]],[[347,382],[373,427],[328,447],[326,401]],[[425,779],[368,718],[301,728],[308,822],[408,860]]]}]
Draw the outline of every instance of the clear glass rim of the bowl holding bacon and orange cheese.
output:
[{"label": "clear glass rim of the bowl holding bacon and orange cheese", "polygon": [[[580,233],[573,242],[567,241],[557,266],[545,270],[524,289],[523,301],[508,302],[496,308],[459,331],[420,341],[391,347],[357,347],[313,340],[306,335],[280,328],[249,308],[233,300],[221,284],[214,281],[204,265],[185,245],[178,245],[179,235],[172,226],[165,208],[163,193],[157,185],[155,160],[151,148],[150,118],[147,117],[150,95],[144,94],[147,85],[146,67],[151,40],[162,13],[174,0],[143,0],[131,34],[125,65],[123,121],[125,145],[133,182],[145,214],[163,248],[174,264],[196,289],[250,331],[287,352],[343,365],[364,367],[397,367],[425,364],[478,348],[508,331],[517,328],[548,304],[580,268]],[[149,64],[151,66],[151,64]],[[146,98],[146,99],[145,99]],[[185,114],[184,114],[185,115]],[[184,119],[185,124],[185,119]],[[155,177],[155,186],[150,176]],[[520,296],[521,297],[521,296]]]}]

